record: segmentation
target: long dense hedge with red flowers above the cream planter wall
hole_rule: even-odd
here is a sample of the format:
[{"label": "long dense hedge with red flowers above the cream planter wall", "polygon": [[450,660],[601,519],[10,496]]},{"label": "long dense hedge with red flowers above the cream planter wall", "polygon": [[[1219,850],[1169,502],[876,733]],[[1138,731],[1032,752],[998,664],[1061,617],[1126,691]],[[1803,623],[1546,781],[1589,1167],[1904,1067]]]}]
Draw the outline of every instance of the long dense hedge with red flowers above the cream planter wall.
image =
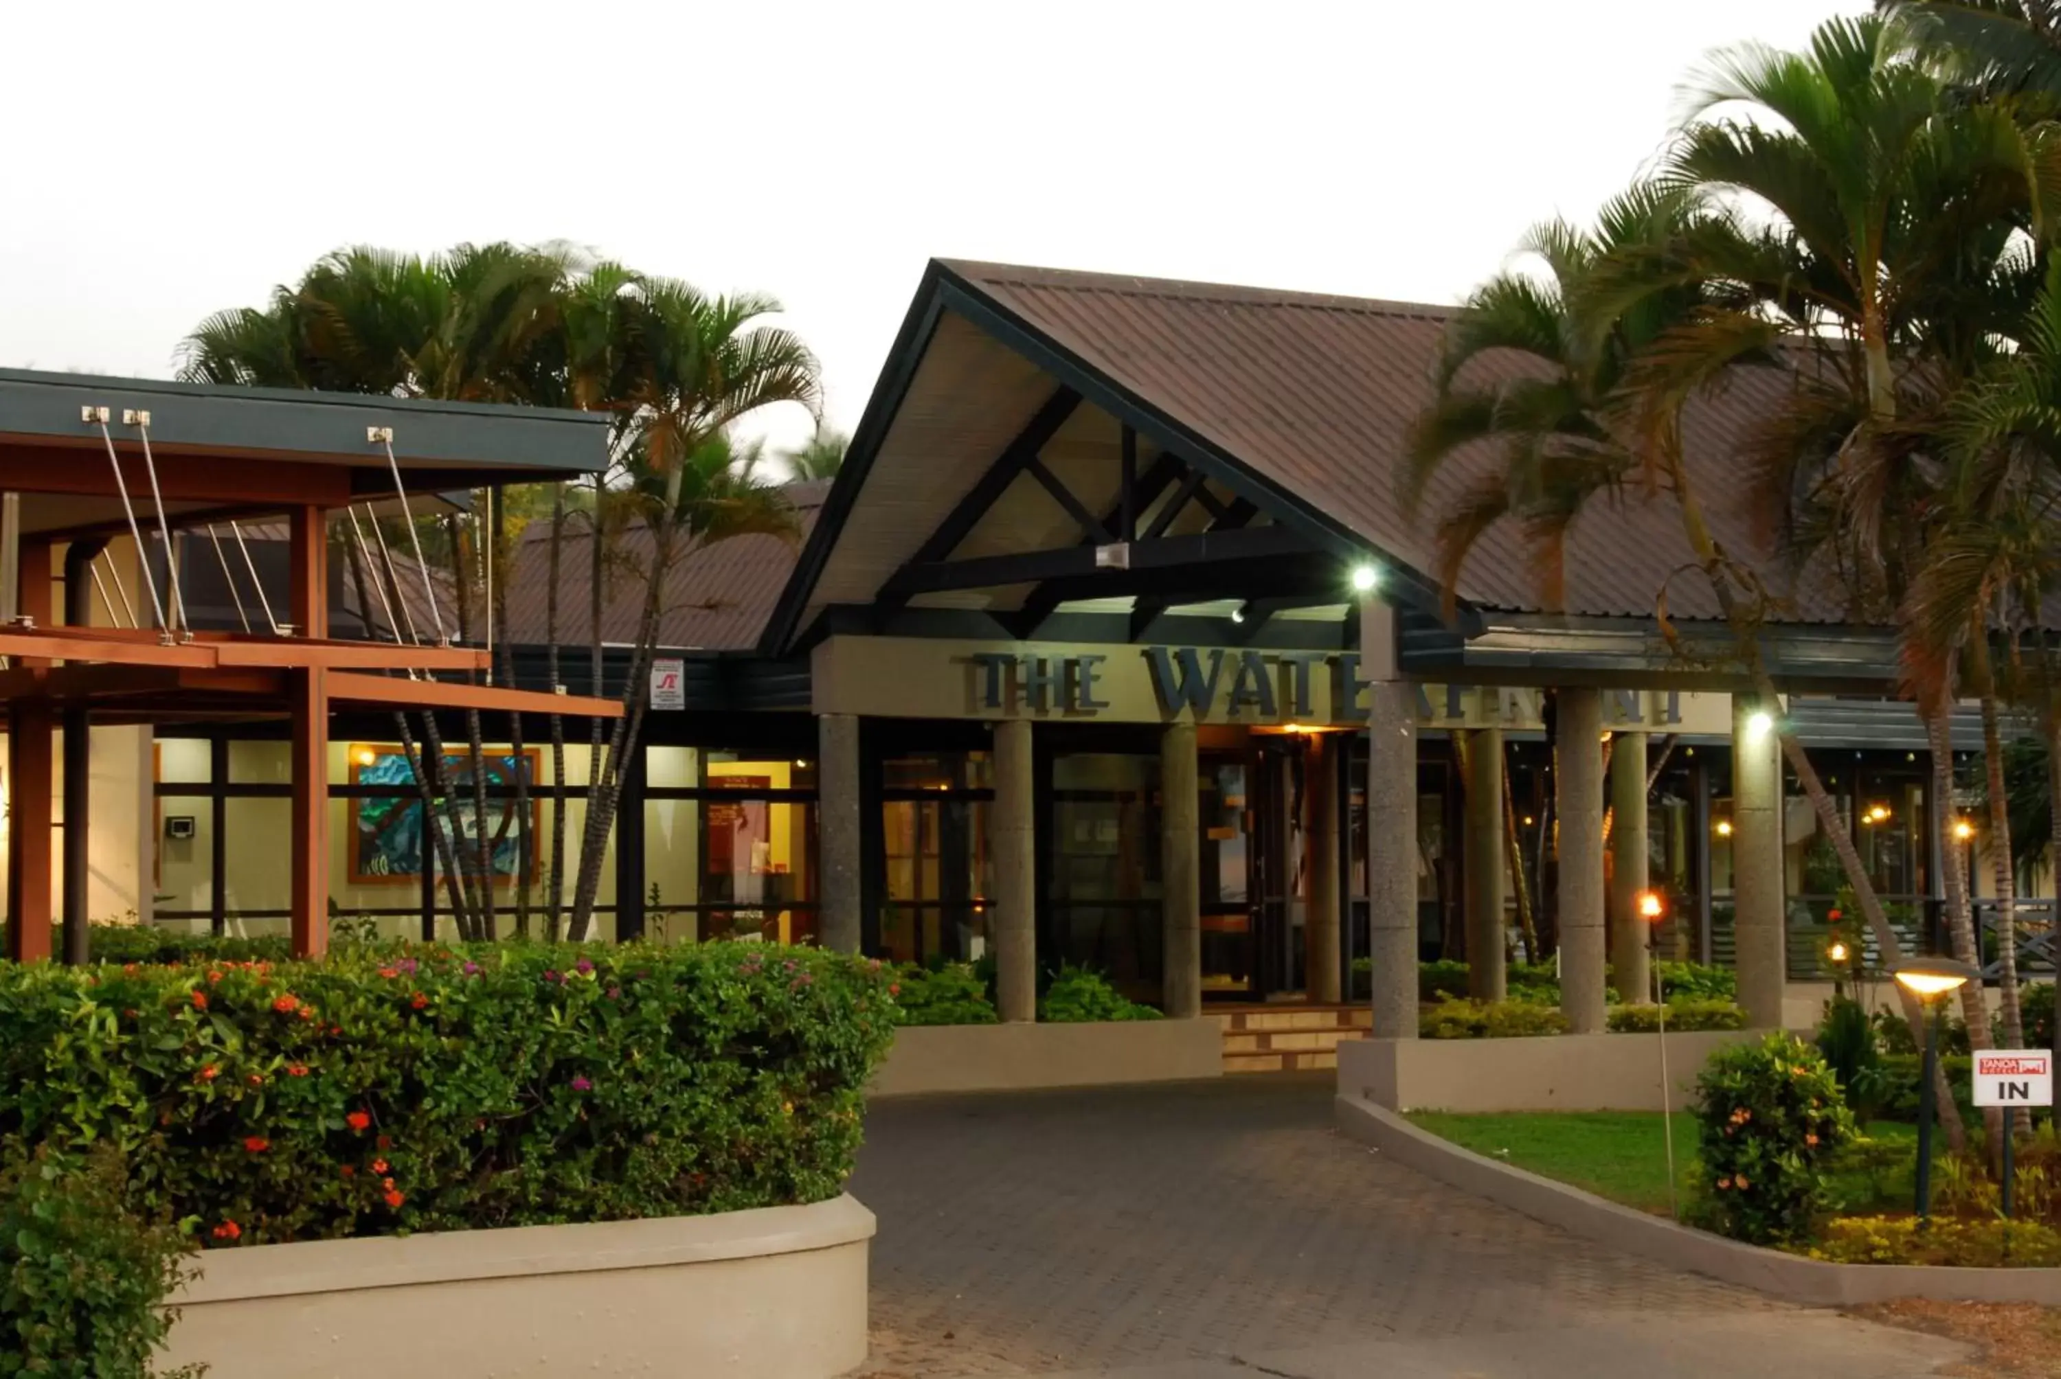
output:
[{"label": "long dense hedge with red flowers above the cream planter wall", "polygon": [[816,1202],[890,1033],[878,965],[763,944],[0,965],[0,1138],[214,1245]]}]

